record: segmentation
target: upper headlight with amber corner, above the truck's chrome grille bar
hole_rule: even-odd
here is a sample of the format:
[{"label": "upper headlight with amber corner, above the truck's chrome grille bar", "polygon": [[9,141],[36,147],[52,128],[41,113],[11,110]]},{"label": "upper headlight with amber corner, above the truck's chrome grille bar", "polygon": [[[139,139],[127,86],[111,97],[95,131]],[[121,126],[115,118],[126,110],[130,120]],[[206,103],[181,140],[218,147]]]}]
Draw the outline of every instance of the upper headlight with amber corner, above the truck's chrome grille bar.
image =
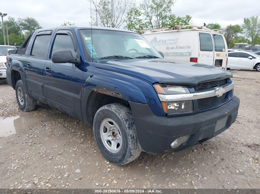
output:
[{"label": "upper headlight with amber corner, above the truck's chrome grille bar", "polygon": [[158,94],[185,94],[190,93],[189,89],[185,86],[173,86],[173,85],[163,85],[155,84],[155,90]]}]

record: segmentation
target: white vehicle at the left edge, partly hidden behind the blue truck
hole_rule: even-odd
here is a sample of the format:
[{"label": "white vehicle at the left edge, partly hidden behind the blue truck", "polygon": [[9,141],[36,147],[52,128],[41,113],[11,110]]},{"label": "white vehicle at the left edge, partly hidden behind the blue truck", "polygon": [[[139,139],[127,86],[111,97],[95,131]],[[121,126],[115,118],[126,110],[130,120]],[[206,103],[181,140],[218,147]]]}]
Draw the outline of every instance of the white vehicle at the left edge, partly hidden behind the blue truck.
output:
[{"label": "white vehicle at the left edge, partly hidden behind the blue truck", "polygon": [[0,45],[0,80],[6,78],[6,55],[8,51],[12,49],[16,49],[16,47]]}]

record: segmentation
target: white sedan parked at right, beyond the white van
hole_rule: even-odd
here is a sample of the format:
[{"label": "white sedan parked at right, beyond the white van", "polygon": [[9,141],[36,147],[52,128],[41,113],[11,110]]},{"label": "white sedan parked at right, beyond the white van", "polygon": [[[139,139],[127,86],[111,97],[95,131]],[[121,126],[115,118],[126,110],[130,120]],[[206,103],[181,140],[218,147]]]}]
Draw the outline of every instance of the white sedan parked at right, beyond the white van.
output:
[{"label": "white sedan parked at right, beyond the white van", "polygon": [[229,52],[227,68],[255,69],[260,71],[260,56],[246,51]]}]

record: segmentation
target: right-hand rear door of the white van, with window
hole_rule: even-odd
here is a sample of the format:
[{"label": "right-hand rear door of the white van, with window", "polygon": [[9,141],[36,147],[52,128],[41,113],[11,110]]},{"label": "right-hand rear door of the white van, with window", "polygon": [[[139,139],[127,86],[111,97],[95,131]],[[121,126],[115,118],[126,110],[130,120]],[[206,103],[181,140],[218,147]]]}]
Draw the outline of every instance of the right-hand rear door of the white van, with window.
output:
[{"label": "right-hand rear door of the white van, with window", "polygon": [[227,45],[222,34],[211,32],[214,41],[214,66],[226,67]]}]

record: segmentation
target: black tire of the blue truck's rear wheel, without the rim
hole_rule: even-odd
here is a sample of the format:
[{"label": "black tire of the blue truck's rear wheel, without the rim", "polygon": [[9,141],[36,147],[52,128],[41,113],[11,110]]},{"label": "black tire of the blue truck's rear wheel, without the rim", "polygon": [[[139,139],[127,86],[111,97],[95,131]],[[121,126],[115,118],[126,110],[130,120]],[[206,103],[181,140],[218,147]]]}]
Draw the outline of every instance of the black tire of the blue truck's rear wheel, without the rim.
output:
[{"label": "black tire of the blue truck's rear wheel, without the rim", "polygon": [[[18,97],[18,93],[22,94],[23,96],[23,103],[21,101],[19,101],[19,97]],[[16,86],[15,86],[15,94],[16,94],[16,101],[17,104],[19,106],[19,108],[23,111],[31,111],[34,110],[36,108],[36,100],[32,97],[29,97],[25,91],[24,91],[24,87],[23,87],[23,83],[22,80],[18,80],[16,82]]]}]

